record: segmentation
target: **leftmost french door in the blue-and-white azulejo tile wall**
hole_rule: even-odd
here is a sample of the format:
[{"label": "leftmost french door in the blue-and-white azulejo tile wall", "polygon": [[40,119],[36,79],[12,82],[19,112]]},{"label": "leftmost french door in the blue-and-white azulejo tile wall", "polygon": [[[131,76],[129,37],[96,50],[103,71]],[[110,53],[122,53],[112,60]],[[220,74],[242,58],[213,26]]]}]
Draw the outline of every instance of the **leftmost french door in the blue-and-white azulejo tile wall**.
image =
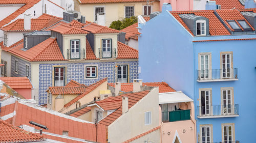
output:
[{"label": "leftmost french door in the blue-and-white azulejo tile wall", "polygon": [[65,85],[65,67],[54,68],[54,87]]}]

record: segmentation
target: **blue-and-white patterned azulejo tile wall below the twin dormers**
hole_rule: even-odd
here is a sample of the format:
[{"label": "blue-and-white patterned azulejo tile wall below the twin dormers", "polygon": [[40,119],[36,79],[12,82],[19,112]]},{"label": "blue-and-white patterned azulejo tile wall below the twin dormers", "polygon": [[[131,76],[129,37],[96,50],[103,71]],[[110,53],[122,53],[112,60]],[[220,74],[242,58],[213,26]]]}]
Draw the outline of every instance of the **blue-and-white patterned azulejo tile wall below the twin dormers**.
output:
[{"label": "blue-and-white patterned azulejo tile wall below the twin dormers", "polygon": [[[93,79],[84,78],[86,65],[98,66],[98,77]],[[108,82],[116,81],[116,65],[129,65],[129,82],[137,79],[138,61],[132,62],[97,62],[97,63],[63,63],[63,64],[40,64],[39,65],[39,105],[47,103],[48,87],[53,86],[53,69],[55,66],[66,67],[66,84],[71,80],[90,85],[96,81],[108,77]]]}]

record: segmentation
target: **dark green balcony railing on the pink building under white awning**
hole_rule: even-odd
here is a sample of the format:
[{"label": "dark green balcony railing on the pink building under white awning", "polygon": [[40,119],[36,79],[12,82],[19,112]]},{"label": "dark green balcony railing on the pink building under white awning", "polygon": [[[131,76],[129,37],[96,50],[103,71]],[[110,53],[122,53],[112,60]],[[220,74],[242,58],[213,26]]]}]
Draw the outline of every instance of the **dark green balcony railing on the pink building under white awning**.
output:
[{"label": "dark green balcony railing on the pink building under white awning", "polygon": [[162,121],[175,122],[190,120],[190,109],[189,110],[177,110],[177,111],[163,111]]}]

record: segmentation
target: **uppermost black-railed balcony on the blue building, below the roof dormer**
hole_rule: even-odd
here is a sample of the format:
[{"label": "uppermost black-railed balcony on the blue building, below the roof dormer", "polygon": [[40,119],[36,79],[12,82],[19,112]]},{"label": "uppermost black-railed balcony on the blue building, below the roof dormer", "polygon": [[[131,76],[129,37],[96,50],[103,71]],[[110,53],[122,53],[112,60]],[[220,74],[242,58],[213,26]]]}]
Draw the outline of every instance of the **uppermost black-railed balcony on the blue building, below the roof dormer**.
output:
[{"label": "uppermost black-railed balcony on the blue building, below the roof dormer", "polygon": [[198,82],[238,80],[238,69],[197,70]]}]

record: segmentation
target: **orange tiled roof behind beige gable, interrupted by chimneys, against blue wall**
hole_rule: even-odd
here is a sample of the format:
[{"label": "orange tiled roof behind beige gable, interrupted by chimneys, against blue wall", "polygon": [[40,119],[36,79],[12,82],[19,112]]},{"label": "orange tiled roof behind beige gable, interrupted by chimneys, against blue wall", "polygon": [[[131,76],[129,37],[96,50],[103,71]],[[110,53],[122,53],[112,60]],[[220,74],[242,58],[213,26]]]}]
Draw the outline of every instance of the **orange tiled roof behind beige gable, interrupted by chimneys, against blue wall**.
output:
[{"label": "orange tiled roof behind beige gable, interrupted by chimneys, against blue wall", "polygon": [[[108,83],[108,85],[110,85],[111,87],[115,87],[114,83]],[[142,85],[148,87],[159,87],[159,93],[176,92],[176,90],[169,87],[166,82],[143,82]],[[121,91],[132,92],[133,83],[121,83]]]}]

